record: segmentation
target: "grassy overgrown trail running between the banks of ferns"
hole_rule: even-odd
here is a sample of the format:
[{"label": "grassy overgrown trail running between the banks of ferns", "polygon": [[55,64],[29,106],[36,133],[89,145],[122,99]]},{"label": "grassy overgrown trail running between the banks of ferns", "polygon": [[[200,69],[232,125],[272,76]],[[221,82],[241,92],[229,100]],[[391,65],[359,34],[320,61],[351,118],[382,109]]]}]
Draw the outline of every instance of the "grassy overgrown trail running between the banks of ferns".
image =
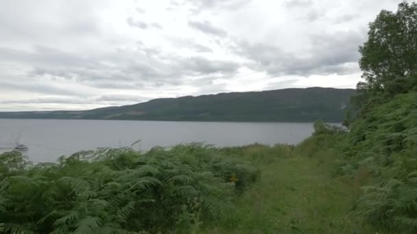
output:
[{"label": "grassy overgrown trail running between the banks of ferns", "polygon": [[209,233],[375,233],[353,222],[360,181],[331,177],[331,155],[278,156],[239,199],[236,226]]}]

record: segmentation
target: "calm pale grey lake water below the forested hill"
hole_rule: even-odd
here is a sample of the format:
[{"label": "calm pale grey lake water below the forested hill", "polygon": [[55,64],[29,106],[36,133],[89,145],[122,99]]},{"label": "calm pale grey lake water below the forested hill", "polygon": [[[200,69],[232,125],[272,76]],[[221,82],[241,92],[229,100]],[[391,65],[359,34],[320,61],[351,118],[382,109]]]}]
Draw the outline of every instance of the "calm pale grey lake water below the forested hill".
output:
[{"label": "calm pale grey lake water below the forested hill", "polygon": [[297,144],[312,132],[312,123],[0,119],[0,153],[19,142],[29,147],[25,155],[30,160],[56,161],[62,155],[130,146],[136,140],[141,142],[134,148],[147,151],[187,142],[215,146]]}]

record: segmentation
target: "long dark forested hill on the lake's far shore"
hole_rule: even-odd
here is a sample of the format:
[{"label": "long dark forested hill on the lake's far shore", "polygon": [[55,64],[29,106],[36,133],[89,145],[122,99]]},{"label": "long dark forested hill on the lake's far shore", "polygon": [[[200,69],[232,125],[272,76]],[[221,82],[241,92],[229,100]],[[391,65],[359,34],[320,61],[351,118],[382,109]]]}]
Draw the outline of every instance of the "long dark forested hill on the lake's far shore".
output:
[{"label": "long dark forested hill on the lake's far shore", "polygon": [[263,92],[231,92],[87,111],[0,112],[0,118],[109,120],[342,122],[352,89],[289,88]]}]

